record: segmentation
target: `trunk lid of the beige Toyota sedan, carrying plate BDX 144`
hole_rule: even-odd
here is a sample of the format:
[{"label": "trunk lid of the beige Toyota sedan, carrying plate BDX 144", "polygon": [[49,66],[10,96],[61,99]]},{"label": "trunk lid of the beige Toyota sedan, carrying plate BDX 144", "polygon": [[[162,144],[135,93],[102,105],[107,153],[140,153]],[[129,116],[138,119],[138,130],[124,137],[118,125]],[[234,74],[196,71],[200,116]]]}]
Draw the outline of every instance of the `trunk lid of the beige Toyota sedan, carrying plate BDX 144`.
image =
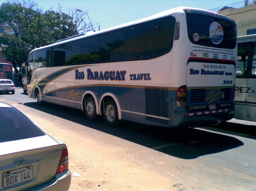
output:
[{"label": "trunk lid of the beige Toyota sedan, carrying plate BDX 144", "polygon": [[63,143],[45,135],[3,142],[0,148],[0,189],[26,190],[54,178]]}]

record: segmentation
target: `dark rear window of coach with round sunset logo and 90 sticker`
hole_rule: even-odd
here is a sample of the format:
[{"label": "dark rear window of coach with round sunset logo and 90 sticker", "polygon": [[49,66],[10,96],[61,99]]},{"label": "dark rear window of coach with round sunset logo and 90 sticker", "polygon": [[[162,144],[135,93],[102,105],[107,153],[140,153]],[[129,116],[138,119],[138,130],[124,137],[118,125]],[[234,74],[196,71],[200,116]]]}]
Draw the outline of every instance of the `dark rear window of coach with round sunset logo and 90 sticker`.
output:
[{"label": "dark rear window of coach with round sunset logo and 90 sticker", "polygon": [[236,47],[236,23],[232,20],[193,12],[186,12],[186,18],[188,38],[193,44],[224,49]]}]

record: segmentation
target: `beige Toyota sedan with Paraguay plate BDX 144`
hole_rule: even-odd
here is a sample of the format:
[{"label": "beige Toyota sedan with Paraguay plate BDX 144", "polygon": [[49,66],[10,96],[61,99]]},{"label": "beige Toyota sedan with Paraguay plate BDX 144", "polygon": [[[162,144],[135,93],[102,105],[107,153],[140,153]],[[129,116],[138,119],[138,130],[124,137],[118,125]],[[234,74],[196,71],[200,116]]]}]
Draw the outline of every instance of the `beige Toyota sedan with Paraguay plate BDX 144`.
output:
[{"label": "beige Toyota sedan with Paraguay plate BDX 144", "polygon": [[68,191],[66,144],[3,102],[0,119],[0,190]]}]

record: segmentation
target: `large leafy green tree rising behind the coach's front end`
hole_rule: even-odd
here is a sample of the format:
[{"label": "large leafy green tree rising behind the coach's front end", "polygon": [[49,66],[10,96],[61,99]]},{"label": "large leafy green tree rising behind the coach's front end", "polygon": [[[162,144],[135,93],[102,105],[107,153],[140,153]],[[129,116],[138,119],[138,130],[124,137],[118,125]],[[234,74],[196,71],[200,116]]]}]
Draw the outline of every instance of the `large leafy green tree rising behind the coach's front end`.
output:
[{"label": "large leafy green tree rising behind the coach's front end", "polygon": [[98,23],[86,22],[87,13],[75,9],[62,11],[51,7],[43,12],[31,0],[8,0],[0,6],[0,25],[9,28],[11,35],[0,37],[0,47],[6,59],[11,61],[17,73],[16,63],[21,68],[34,48],[52,44],[54,41],[95,29]]}]

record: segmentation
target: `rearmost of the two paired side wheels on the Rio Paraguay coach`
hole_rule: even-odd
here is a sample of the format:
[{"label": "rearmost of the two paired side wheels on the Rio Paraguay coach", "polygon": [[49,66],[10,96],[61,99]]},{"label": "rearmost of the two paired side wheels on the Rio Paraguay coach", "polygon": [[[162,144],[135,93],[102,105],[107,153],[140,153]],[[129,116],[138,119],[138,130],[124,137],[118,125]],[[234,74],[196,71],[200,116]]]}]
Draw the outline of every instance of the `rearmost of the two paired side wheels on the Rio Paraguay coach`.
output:
[{"label": "rearmost of the two paired side wheels on the Rio Paraguay coach", "polygon": [[106,100],[105,106],[104,106],[104,121],[106,124],[115,127],[118,124],[118,110],[116,103],[114,100],[109,99]]}]

